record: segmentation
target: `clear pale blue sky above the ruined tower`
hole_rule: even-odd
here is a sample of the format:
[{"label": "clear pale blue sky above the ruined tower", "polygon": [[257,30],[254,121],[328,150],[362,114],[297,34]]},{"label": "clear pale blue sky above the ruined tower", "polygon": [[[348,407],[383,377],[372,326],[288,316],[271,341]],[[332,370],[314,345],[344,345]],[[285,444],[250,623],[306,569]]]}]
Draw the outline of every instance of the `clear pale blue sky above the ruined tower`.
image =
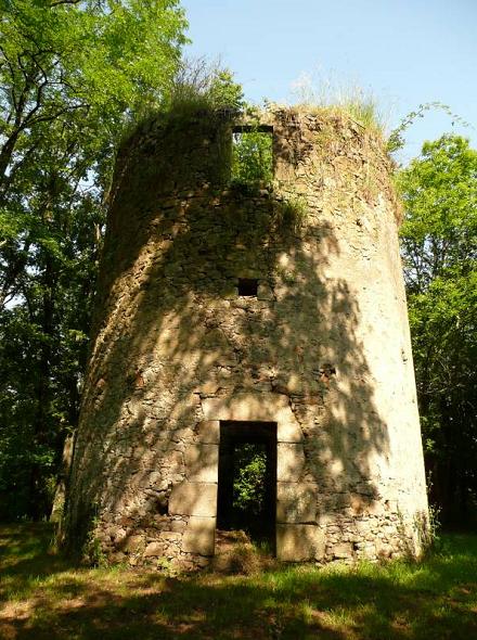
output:
[{"label": "clear pale blue sky above the ruined tower", "polygon": [[[438,101],[474,128],[437,111],[407,133],[401,154],[447,131],[477,148],[477,0],[183,0],[190,56],[220,59],[248,100],[293,103],[310,81],[360,87],[388,129],[418,104]],[[309,78],[306,80],[305,78]]]}]

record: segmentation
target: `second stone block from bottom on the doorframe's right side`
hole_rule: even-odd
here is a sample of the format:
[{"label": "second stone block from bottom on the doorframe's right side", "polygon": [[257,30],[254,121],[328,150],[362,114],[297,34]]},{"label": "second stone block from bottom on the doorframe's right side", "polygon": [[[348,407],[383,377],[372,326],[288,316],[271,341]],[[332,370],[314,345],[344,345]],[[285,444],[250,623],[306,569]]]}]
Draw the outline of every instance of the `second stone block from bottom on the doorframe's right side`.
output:
[{"label": "second stone block from bottom on the doorframe's right side", "polygon": [[315,523],[315,483],[278,483],[276,521],[281,523]]}]

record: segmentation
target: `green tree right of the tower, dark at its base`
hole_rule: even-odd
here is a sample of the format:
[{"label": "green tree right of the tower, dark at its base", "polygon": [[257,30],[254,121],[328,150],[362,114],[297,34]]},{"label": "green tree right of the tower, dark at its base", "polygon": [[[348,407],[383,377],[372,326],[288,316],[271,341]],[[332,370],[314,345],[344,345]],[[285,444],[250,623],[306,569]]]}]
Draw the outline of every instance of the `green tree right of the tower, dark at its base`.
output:
[{"label": "green tree right of the tower, dark at its base", "polygon": [[430,497],[455,523],[477,498],[477,151],[427,142],[398,185]]}]

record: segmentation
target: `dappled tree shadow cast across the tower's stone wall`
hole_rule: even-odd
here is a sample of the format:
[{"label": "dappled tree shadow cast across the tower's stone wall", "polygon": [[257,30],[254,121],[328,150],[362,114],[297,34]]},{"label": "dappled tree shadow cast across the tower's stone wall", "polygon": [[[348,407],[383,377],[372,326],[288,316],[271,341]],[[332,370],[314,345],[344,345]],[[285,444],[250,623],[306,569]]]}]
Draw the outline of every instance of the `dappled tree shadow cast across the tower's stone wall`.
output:
[{"label": "dappled tree shadow cast across the tower's stone wall", "polygon": [[[360,308],[345,279],[323,276],[339,255],[334,228],[312,204],[297,230],[271,192],[224,188],[210,167],[229,157],[227,127],[197,118],[186,130],[167,129],[160,149],[154,131],[141,133],[118,163],[67,503],[72,549],[96,513],[115,514],[123,547],[125,533],[166,517],[207,398],[289,400],[306,459],[288,471],[317,485],[319,520],[361,513],[379,495],[389,443]],[[237,278],[258,280],[257,298],[238,296]]]}]

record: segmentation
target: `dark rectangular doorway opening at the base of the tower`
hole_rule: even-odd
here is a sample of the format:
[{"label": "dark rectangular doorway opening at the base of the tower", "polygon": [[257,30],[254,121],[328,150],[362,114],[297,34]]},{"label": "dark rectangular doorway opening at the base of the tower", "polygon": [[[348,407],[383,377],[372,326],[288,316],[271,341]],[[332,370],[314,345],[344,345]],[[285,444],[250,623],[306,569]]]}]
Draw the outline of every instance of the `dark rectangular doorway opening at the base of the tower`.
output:
[{"label": "dark rectangular doorway opening at the base of the tower", "polygon": [[217,526],[275,551],[276,423],[220,423]]}]

